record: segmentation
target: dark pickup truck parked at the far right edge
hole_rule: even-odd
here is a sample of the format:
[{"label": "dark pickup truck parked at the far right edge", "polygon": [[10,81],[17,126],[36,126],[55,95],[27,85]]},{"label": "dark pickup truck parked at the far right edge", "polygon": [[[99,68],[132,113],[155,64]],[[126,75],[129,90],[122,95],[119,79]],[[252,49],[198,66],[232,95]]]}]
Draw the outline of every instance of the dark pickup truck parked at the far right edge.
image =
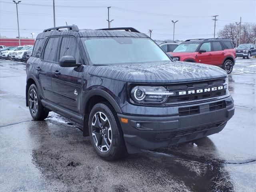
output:
[{"label": "dark pickup truck parked at the far right edge", "polygon": [[251,56],[256,55],[256,45],[255,44],[240,44],[235,48],[236,56],[250,59]]}]

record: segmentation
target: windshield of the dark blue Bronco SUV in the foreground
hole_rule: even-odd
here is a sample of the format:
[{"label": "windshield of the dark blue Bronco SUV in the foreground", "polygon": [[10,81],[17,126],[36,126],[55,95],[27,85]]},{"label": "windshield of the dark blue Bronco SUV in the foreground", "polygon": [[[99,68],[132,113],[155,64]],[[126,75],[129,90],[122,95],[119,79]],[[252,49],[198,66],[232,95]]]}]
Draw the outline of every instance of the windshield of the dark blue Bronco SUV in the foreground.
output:
[{"label": "windshield of the dark blue Bronco SUV in the foreground", "polygon": [[150,38],[102,37],[83,38],[92,64],[121,64],[170,61],[164,51]]}]

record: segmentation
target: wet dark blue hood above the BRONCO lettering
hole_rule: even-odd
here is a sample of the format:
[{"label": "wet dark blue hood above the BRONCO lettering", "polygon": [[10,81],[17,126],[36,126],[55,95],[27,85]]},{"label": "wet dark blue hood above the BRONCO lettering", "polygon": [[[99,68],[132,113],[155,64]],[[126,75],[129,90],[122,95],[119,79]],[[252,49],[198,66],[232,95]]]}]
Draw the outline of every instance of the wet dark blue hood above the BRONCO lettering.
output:
[{"label": "wet dark blue hood above the BRONCO lettering", "polygon": [[226,71],[207,64],[191,62],[156,62],[90,66],[89,74],[138,83],[172,83],[226,77]]}]

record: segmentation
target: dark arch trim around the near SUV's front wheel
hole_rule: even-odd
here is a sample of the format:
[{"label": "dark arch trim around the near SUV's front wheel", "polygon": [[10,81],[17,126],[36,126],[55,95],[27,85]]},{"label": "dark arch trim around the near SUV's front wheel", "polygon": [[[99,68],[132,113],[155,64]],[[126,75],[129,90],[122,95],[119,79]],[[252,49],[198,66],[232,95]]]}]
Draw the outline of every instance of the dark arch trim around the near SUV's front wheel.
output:
[{"label": "dark arch trim around the near SUV's front wheel", "polygon": [[86,94],[86,99],[82,101],[82,104],[84,104],[82,108],[82,111],[84,111],[83,136],[89,136],[88,120],[89,120],[90,111],[92,110],[92,107],[95,104],[100,102],[108,103],[108,105],[112,107],[114,112],[121,113],[121,109],[118,106],[116,100],[114,100],[114,98],[108,92],[101,89],[90,90]]}]

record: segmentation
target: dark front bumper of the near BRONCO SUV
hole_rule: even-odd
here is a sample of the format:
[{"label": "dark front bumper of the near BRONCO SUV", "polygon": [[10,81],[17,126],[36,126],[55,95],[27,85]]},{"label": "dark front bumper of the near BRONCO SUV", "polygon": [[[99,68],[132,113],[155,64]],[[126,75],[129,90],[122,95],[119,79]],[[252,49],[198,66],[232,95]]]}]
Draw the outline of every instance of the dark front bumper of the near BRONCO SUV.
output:
[{"label": "dark front bumper of the near BRONCO SUV", "polygon": [[[128,153],[140,152],[140,149],[156,149],[188,142],[220,132],[234,115],[234,102],[228,97],[226,107],[210,111],[209,103],[200,105],[200,113],[179,116],[132,116],[118,114],[118,118],[127,118],[128,123],[120,121]],[[202,107],[201,107],[202,106]],[[180,106],[184,107],[184,106]],[[186,106],[187,107],[187,106]],[[140,126],[136,126],[140,124]]]}]

